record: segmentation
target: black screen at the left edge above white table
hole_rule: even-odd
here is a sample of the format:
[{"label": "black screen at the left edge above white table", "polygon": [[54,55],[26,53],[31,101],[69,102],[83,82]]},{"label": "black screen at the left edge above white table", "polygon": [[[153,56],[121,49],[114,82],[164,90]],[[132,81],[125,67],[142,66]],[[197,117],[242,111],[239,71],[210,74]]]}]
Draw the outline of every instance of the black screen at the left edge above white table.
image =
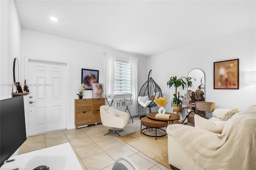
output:
[{"label": "black screen at the left edge above white table", "polygon": [[26,127],[23,96],[0,101],[1,165],[25,142]]}]

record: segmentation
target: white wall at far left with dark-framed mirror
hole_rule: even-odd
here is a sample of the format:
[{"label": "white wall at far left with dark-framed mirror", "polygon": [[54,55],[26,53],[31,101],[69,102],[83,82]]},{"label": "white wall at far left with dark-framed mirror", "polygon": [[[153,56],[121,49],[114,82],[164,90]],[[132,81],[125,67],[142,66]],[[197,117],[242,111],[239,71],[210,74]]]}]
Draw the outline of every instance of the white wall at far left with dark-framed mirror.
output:
[{"label": "white wall at far left with dark-framed mirror", "polygon": [[[13,0],[1,1],[1,93],[0,99],[12,97],[13,61],[20,62],[20,21]],[[21,81],[21,79],[20,79]]]}]

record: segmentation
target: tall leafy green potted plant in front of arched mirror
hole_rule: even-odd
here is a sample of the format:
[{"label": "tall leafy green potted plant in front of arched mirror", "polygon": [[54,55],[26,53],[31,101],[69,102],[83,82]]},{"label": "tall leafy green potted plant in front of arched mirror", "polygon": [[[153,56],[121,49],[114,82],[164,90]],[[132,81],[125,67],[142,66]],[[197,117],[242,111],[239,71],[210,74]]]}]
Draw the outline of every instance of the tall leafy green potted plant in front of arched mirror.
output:
[{"label": "tall leafy green potted plant in front of arched mirror", "polygon": [[[176,108],[177,110],[181,110],[181,104],[182,101],[180,98],[183,98],[183,96],[180,96],[180,93],[178,92],[177,95],[177,89],[178,87],[182,86],[182,89],[184,89],[184,87],[186,87],[186,85],[188,85],[188,87],[192,87],[192,79],[191,77],[180,77],[179,79],[177,79],[177,76],[175,77],[171,77],[170,80],[167,82],[167,86],[169,86],[169,88],[172,87],[172,85],[175,87],[175,94],[174,98],[172,99],[172,105],[174,105],[174,108]],[[196,79],[194,79],[196,81]],[[187,83],[186,83],[187,82]]]}]

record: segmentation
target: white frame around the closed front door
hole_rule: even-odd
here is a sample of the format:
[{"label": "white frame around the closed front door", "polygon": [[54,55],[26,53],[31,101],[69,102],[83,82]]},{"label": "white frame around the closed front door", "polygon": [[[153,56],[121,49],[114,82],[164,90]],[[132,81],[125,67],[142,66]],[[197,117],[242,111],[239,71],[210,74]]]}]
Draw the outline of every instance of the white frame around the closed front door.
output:
[{"label": "white frame around the closed front door", "polygon": [[[28,77],[28,61],[34,60],[34,61],[45,61],[50,63],[60,63],[60,64],[66,64],[67,66],[67,91],[70,92],[70,62],[69,61],[57,61],[57,60],[50,60],[50,59],[42,59],[42,58],[34,58],[34,57],[26,57],[25,56],[25,67],[24,67],[24,77]],[[26,79],[26,78],[25,78]],[[70,93],[66,93],[66,109],[67,109],[67,129],[71,129],[70,127]],[[27,101],[27,107],[28,107],[28,101]],[[26,121],[26,129],[28,129],[28,112],[25,113],[25,121]],[[28,134],[28,132],[27,132]]]}]

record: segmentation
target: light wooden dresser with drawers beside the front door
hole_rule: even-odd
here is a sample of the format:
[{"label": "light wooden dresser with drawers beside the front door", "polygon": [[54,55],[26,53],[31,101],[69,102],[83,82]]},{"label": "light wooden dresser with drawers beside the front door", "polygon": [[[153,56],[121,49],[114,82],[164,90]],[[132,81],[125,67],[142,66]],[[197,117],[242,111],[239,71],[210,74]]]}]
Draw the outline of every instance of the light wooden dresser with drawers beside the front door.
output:
[{"label": "light wooden dresser with drawers beside the front door", "polygon": [[105,98],[75,99],[75,126],[100,123],[100,106],[105,105]]}]

